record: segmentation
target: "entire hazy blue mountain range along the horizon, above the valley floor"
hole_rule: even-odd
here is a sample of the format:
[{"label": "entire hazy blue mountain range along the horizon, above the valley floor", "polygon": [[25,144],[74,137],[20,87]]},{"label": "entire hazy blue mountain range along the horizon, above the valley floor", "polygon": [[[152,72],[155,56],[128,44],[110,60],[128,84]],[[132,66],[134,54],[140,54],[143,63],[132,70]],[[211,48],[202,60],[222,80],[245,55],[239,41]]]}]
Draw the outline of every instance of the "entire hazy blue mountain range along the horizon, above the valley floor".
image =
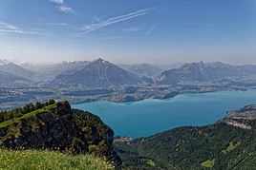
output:
[{"label": "entire hazy blue mountain range along the horizon, above the valley floor", "polygon": [[[2,77],[38,85],[109,87],[117,85],[182,85],[218,83],[229,79],[256,77],[256,66],[232,66],[221,62],[189,63],[164,70],[149,64],[115,65],[102,59],[93,62],[62,62],[54,65],[16,65],[0,61]],[[165,67],[166,68],[166,67]],[[6,74],[4,73],[6,72]],[[4,82],[4,81],[2,81]],[[12,81],[13,82],[13,81]]]}]

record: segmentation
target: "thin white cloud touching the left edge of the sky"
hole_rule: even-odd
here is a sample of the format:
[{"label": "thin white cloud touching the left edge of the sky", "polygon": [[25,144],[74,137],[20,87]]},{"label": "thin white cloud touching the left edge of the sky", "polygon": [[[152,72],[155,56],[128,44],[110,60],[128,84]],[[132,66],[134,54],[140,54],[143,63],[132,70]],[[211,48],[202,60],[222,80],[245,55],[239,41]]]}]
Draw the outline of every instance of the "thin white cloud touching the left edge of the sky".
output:
[{"label": "thin white cloud touching the left edge of the sky", "polygon": [[28,30],[23,30],[21,28],[17,28],[11,24],[0,22],[0,32],[4,33],[20,33],[20,34],[40,34],[39,32],[36,31],[28,31]]}]

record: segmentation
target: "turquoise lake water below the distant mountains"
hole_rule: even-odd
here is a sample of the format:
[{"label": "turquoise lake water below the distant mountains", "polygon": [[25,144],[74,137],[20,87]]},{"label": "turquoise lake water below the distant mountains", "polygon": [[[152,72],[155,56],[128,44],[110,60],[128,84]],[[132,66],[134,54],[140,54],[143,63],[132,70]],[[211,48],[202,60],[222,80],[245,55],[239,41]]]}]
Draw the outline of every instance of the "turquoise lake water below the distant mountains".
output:
[{"label": "turquoise lake water below the distant mountains", "polygon": [[167,100],[147,99],[117,104],[93,102],[74,104],[110,125],[117,136],[146,137],[183,125],[215,123],[226,111],[256,104],[256,90],[181,94]]}]

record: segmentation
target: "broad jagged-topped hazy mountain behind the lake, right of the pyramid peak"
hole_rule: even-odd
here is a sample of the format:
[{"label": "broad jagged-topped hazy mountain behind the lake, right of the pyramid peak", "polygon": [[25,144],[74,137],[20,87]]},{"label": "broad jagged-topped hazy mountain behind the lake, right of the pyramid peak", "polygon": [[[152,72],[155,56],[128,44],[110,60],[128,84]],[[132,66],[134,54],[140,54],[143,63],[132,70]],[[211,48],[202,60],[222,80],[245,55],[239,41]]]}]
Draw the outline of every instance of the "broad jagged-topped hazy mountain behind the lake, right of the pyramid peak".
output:
[{"label": "broad jagged-topped hazy mountain behind the lake, right of the pyramid peak", "polygon": [[225,78],[255,76],[256,66],[231,66],[221,62],[192,63],[162,72],[157,78],[161,85],[218,82]]}]

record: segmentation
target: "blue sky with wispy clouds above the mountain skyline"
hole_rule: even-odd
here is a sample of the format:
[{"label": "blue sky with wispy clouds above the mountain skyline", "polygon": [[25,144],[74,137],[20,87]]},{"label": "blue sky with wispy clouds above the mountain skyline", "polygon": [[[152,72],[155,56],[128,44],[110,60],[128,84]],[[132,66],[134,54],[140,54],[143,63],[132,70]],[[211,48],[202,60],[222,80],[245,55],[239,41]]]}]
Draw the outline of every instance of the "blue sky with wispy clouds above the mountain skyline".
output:
[{"label": "blue sky with wispy clouds above the mountain skyline", "polygon": [[256,64],[255,0],[0,0],[0,59]]}]

